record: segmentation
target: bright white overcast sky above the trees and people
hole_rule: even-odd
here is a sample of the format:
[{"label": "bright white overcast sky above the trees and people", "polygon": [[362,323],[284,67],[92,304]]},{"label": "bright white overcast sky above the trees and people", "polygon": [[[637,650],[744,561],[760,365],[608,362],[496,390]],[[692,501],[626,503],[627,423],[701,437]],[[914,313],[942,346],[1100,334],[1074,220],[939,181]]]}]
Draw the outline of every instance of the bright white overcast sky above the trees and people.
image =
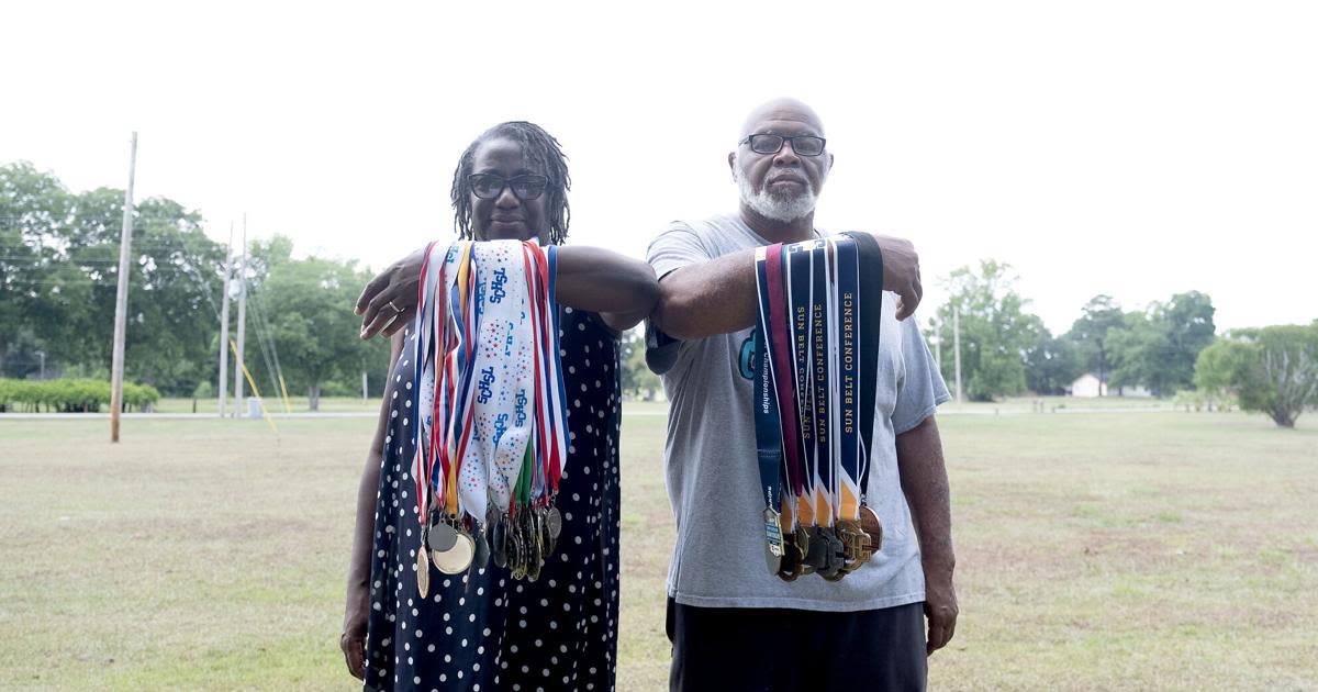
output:
[{"label": "bright white overcast sky above the trees and people", "polygon": [[[836,156],[816,225],[911,239],[923,320],[983,258],[1054,332],[1097,294],[1207,293],[1224,328],[1307,323],[1318,5],[13,3],[0,165],[202,212],[228,240],[380,269],[452,237],[459,154],[531,120],[572,171],[569,243],[642,257],[730,212],[775,96]],[[921,322],[923,322],[921,320]]]}]

